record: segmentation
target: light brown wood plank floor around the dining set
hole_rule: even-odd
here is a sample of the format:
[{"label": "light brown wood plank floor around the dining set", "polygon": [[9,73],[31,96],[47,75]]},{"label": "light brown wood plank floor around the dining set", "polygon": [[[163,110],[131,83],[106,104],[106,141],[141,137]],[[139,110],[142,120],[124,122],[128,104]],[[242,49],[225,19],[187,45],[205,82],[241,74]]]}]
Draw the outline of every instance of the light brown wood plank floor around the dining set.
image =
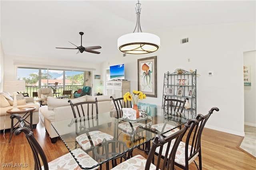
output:
[{"label": "light brown wood plank floor around the dining set", "polygon": [[[60,139],[55,144],[50,142],[48,134],[45,132],[44,125],[40,121],[34,129],[34,135],[44,149],[48,162],[68,153],[65,145]],[[0,136],[0,170],[32,170],[34,169],[34,159],[29,145],[24,135],[13,136],[10,143],[8,139],[10,131],[3,131]],[[241,141],[240,136],[214,131],[205,128],[202,133],[202,167],[203,170],[255,170],[256,158],[249,156],[239,150],[236,146]],[[144,152],[135,149],[133,155]],[[198,162],[198,158],[196,159]],[[4,167],[4,164],[12,163],[23,164],[27,167]],[[103,166],[104,169],[104,166]],[[190,164],[191,170],[196,170],[194,162]],[[176,167],[176,170],[180,168]]]}]

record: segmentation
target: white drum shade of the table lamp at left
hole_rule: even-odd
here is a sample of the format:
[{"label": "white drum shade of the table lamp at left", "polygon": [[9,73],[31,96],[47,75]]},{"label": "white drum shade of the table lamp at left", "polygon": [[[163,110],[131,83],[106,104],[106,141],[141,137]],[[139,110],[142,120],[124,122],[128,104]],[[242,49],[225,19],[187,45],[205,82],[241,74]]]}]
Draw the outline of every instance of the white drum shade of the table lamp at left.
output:
[{"label": "white drum shade of the table lamp at left", "polygon": [[24,80],[4,80],[4,92],[24,92],[25,90]]}]

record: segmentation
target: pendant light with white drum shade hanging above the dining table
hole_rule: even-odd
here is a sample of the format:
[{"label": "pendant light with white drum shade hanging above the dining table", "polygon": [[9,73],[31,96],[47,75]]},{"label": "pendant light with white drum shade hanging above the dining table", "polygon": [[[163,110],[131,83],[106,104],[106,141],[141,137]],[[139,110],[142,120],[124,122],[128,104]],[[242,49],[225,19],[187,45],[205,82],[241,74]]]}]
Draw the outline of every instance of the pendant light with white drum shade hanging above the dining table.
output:
[{"label": "pendant light with white drum shade hanging above the dining table", "polygon": [[[120,51],[128,54],[146,54],[160,48],[160,38],[152,33],[143,33],[140,28],[140,1],[136,4],[137,22],[133,33],[122,35],[117,40]],[[137,29],[137,32],[135,30]]]}]

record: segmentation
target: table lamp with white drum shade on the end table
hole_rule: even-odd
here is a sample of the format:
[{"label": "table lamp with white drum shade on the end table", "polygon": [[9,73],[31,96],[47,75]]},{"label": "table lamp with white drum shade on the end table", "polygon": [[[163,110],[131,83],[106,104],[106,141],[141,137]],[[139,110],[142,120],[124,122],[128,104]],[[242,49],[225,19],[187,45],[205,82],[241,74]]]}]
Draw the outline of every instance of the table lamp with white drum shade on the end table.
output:
[{"label": "table lamp with white drum shade on the end table", "polygon": [[5,80],[4,81],[4,92],[13,92],[13,109],[12,111],[19,111],[17,108],[17,92],[24,92],[26,90],[24,80]]}]

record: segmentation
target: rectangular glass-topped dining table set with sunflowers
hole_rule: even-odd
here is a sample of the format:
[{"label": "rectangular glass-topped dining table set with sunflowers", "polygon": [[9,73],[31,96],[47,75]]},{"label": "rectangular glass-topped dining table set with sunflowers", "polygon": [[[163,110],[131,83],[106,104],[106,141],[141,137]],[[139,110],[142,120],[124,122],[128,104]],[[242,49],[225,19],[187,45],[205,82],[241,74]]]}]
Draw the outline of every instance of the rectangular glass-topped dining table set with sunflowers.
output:
[{"label": "rectangular glass-topped dining table set with sunflowers", "polygon": [[[111,141],[98,141],[98,145],[94,146],[90,152],[87,152],[98,164],[87,166],[80,164],[74,154],[73,157],[82,169],[92,169],[101,164],[107,163],[115,158],[129,158],[133,149],[138,148],[148,152],[150,142],[157,134],[168,134],[178,131],[181,125],[185,124],[188,119],[180,117],[179,114],[165,113],[163,109],[157,108],[154,113],[145,114],[136,120],[129,120],[119,117],[122,110],[108,111],[106,113],[98,113],[86,117],[66,119],[62,121],[52,122],[52,126],[62,139],[70,153],[81,148],[76,142],[78,135],[87,133],[88,131],[100,131],[112,135]],[[121,129],[122,123],[130,125],[127,129]],[[168,127],[168,128],[165,128]],[[85,150],[86,152],[86,150]],[[127,156],[128,155],[128,156]]]}]

